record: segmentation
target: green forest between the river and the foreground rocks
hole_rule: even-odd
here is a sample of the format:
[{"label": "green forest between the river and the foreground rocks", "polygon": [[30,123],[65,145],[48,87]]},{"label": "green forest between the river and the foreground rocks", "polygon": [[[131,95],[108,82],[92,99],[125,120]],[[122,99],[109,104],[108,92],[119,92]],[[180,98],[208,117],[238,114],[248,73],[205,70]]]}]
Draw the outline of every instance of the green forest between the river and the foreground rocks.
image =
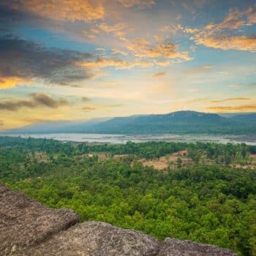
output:
[{"label": "green forest between the river and the foreground rocks", "polygon": [[[163,170],[145,165],[174,155]],[[187,239],[253,256],[255,156],[256,146],[244,143],[0,137],[0,181],[45,206],[72,208],[82,222],[109,222],[159,240]]]}]

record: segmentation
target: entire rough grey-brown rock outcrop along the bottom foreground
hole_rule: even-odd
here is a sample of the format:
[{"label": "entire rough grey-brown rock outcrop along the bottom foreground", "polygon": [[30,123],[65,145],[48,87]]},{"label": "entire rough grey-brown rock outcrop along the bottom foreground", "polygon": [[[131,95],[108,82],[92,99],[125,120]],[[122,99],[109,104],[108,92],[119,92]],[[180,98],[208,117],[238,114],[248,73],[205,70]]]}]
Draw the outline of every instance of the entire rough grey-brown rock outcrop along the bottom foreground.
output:
[{"label": "entire rough grey-brown rock outcrop along the bottom foreground", "polygon": [[0,255],[234,256],[217,246],[166,238],[105,222],[78,223],[73,211],[50,209],[0,184]]}]

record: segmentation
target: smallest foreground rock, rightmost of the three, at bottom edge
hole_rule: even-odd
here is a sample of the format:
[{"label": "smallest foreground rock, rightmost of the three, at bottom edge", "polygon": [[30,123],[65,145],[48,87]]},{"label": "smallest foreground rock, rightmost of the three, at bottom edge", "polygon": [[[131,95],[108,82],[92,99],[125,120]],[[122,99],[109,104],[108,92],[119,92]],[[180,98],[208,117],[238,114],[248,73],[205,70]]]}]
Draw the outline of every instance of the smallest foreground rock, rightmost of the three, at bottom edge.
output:
[{"label": "smallest foreground rock, rightmost of the three, at bottom edge", "polygon": [[165,238],[159,246],[157,256],[236,256],[236,254],[218,246]]}]

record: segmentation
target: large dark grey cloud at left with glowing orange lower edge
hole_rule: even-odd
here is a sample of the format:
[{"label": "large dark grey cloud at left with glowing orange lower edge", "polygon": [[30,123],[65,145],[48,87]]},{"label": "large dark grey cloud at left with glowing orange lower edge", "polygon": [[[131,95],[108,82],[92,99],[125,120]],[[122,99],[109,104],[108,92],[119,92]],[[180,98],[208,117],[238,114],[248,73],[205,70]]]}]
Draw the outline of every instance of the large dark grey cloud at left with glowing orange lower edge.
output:
[{"label": "large dark grey cloud at left with glowing orange lower edge", "polygon": [[0,89],[37,79],[44,83],[70,83],[93,77],[76,63],[93,56],[74,50],[45,48],[18,37],[0,37]]}]

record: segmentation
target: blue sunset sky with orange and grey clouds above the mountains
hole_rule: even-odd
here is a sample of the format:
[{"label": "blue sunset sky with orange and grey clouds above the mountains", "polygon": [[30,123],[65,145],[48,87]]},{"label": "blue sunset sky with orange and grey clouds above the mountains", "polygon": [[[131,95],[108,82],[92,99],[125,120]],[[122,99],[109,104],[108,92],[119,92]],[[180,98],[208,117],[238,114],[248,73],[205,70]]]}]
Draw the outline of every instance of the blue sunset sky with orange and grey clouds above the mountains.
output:
[{"label": "blue sunset sky with orange and grey clouds above the mountains", "polygon": [[1,0],[0,129],[256,112],[256,3]]}]

